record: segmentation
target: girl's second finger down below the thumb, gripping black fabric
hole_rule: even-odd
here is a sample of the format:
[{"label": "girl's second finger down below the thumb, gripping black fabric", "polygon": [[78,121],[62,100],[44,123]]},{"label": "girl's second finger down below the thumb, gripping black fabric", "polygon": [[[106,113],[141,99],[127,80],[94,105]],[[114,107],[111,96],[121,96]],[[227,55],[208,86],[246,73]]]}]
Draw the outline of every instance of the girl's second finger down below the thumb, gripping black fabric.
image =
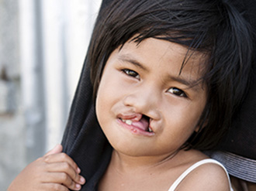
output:
[{"label": "girl's second finger down below the thumb, gripping black fabric", "polygon": [[65,172],[74,182],[85,184],[85,178],[80,176],[67,162],[50,163],[47,165],[47,172]]}]

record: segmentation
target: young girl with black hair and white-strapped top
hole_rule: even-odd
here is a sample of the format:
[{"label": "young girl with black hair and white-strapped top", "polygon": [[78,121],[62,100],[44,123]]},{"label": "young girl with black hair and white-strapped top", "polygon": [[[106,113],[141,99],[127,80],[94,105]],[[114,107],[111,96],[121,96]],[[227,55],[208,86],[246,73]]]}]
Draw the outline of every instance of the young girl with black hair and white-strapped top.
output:
[{"label": "young girl with black hair and white-strapped top", "polygon": [[200,151],[229,128],[251,55],[250,27],[228,1],[106,2],[64,134],[66,154],[58,145],[9,191],[231,190],[223,166]]}]

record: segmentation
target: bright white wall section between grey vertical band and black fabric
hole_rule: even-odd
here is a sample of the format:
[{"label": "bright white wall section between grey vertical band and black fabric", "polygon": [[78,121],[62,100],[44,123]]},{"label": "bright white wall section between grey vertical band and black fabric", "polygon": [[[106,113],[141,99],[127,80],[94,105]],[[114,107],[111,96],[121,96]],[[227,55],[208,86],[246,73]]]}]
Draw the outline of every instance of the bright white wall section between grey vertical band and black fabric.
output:
[{"label": "bright white wall section between grey vertical band and black fabric", "polygon": [[42,1],[47,149],[61,141],[99,4]]}]

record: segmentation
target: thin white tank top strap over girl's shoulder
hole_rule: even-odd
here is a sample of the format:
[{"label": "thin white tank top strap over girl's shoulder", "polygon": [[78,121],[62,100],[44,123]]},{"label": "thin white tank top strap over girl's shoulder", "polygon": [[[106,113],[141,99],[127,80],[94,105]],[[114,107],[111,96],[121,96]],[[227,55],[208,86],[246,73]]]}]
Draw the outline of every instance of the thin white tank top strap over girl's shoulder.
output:
[{"label": "thin white tank top strap over girl's shoulder", "polygon": [[181,176],[178,177],[178,179],[175,180],[175,182],[171,185],[170,189],[168,189],[168,191],[175,191],[175,189],[177,188],[177,186],[182,182],[183,179],[185,179],[186,176],[189,175],[190,172],[192,172],[194,169],[196,169],[197,167],[199,167],[200,165],[204,165],[206,163],[214,163],[216,165],[220,165],[224,171],[227,174],[227,178],[229,180],[229,184],[230,184],[230,191],[233,191],[232,187],[231,187],[231,183],[230,183],[230,176],[227,173],[227,170],[225,169],[225,167],[220,163],[217,162],[214,159],[203,159],[199,162],[195,162],[194,165],[190,166],[189,169],[186,169],[185,172],[182,173]]}]

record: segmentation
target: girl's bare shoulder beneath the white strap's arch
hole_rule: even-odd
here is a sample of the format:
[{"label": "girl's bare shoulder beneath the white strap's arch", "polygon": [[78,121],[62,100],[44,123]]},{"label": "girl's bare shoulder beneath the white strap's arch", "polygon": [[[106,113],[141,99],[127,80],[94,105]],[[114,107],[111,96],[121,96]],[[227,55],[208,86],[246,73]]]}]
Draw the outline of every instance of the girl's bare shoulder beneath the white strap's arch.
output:
[{"label": "girl's bare shoulder beneath the white strap's arch", "polygon": [[180,183],[181,191],[230,191],[227,173],[220,165],[206,163],[199,165]]}]

